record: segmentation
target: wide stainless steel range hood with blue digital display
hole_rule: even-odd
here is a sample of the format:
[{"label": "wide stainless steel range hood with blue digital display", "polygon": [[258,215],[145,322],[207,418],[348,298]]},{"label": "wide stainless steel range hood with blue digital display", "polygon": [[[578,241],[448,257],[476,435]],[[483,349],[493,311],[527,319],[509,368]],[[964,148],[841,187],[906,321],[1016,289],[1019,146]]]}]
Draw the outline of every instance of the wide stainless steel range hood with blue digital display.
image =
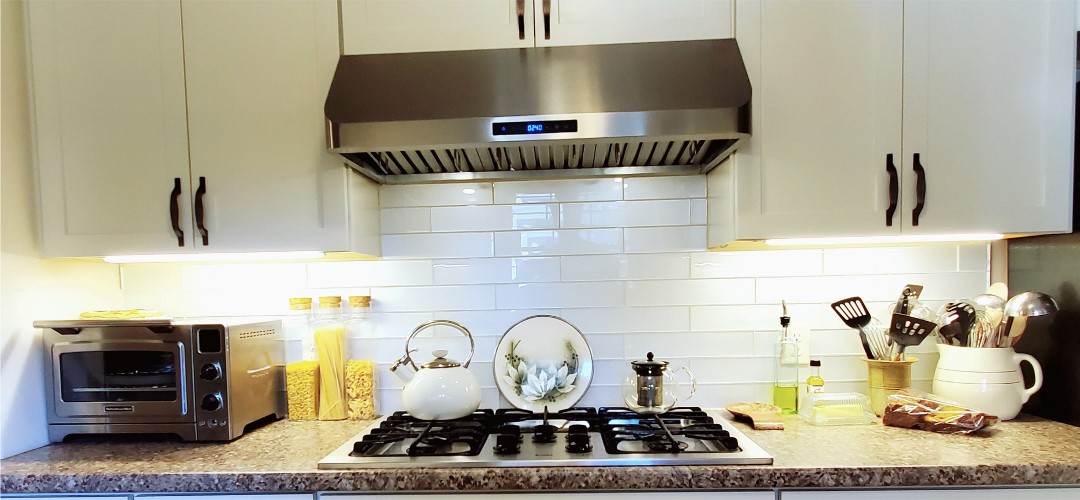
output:
[{"label": "wide stainless steel range hood with blue digital display", "polygon": [[734,40],[342,56],[330,148],[379,183],[707,172],[750,134]]}]

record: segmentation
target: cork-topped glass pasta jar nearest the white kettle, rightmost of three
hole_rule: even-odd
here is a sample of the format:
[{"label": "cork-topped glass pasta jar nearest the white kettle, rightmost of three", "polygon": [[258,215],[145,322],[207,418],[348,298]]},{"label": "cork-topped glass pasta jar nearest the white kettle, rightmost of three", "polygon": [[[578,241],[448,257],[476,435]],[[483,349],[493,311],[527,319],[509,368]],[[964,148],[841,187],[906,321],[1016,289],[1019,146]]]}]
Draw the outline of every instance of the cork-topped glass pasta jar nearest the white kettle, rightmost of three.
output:
[{"label": "cork-topped glass pasta jar nearest the white kettle, rightmost of three", "polygon": [[370,311],[370,296],[349,297],[349,317],[345,322],[349,342],[346,356],[348,361],[345,365],[345,393],[347,417],[350,420],[370,420],[377,415]]}]

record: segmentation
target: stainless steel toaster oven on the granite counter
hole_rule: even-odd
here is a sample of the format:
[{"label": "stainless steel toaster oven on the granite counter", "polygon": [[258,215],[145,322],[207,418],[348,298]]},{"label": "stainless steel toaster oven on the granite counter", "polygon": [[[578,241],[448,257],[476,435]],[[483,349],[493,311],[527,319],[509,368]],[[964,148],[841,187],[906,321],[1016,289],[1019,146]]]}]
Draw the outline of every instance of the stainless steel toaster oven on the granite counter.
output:
[{"label": "stainless steel toaster oven on the granite counter", "polygon": [[41,321],[49,438],[230,441],[286,415],[280,321]]}]

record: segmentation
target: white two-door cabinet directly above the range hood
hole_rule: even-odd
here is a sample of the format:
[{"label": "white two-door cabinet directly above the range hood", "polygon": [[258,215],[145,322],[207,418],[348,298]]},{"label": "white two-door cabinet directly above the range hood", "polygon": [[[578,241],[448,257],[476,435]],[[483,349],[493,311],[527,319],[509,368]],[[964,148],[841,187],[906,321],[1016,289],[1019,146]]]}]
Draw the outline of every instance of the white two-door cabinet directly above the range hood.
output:
[{"label": "white two-door cabinet directly above the range hood", "polygon": [[346,54],[730,38],[731,0],[341,0]]}]

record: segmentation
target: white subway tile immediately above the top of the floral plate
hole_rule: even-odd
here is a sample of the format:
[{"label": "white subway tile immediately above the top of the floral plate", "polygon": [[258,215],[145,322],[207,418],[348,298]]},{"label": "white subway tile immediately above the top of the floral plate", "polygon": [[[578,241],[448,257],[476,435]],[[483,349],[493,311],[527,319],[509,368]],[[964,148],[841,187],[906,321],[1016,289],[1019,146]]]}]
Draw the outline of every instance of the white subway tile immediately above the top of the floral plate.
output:
[{"label": "white subway tile immediately above the top of the floral plate", "polygon": [[624,295],[621,282],[524,283],[496,286],[498,309],[610,308],[621,306]]}]

